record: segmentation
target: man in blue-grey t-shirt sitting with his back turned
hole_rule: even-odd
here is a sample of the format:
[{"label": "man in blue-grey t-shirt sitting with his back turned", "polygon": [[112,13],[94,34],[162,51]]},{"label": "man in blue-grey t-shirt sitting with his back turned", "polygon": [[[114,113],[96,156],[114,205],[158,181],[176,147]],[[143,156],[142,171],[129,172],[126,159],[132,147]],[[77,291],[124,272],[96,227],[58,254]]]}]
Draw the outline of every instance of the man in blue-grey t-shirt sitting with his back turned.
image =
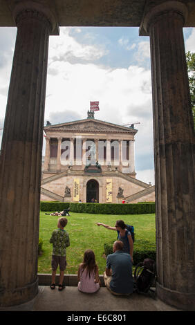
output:
[{"label": "man in blue-grey t-shirt sitting with his back turned", "polygon": [[130,295],[133,293],[131,256],[122,251],[122,241],[113,243],[113,254],[106,259],[104,283],[113,295]]}]

